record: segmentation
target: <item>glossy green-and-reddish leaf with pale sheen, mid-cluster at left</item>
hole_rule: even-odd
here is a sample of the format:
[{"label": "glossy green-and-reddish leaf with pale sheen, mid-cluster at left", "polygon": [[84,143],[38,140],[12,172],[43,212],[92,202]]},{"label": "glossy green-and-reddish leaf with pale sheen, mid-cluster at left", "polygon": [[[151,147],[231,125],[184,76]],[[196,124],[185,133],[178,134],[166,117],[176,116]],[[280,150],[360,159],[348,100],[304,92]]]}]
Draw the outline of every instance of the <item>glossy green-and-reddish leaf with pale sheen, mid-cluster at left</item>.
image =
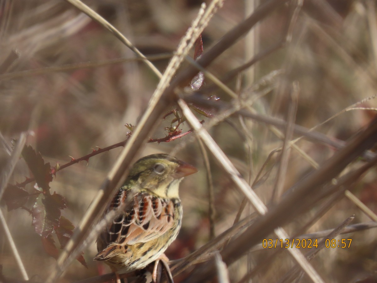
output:
[{"label": "glossy green-and-reddish leaf with pale sheen, mid-cluster at left", "polygon": [[33,222],[37,232],[43,238],[48,237],[59,226],[60,209],[51,195],[38,195],[32,208]]}]

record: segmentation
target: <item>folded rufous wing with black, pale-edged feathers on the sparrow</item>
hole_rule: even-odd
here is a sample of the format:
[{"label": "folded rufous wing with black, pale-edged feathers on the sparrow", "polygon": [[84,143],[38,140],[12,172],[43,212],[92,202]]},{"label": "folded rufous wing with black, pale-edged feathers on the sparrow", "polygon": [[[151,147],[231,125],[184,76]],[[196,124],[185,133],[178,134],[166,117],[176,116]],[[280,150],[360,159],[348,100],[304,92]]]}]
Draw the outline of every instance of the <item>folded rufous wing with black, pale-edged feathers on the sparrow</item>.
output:
[{"label": "folded rufous wing with black, pale-edged feathers on the sparrow", "polygon": [[[118,192],[110,209],[116,209],[127,198],[129,190]],[[107,229],[106,242],[134,245],[158,238],[174,225],[176,202],[152,196],[146,192],[135,194],[124,213]]]}]

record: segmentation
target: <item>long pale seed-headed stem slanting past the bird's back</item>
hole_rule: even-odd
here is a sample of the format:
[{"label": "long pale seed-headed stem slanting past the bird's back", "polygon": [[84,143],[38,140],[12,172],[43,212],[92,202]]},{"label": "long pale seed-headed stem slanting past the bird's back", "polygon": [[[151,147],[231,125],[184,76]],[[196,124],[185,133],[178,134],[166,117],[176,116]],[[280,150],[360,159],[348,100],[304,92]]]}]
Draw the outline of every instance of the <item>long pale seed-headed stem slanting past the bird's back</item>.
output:
[{"label": "long pale seed-headed stem slanting past the bird's back", "polygon": [[[176,54],[173,56],[169,65],[164,72],[155,92],[150,99],[149,105],[144,112],[141,120],[136,126],[133,134],[129,137],[123,151],[118,157],[112,170],[109,172],[106,180],[101,185],[101,189],[98,192],[95,199],[90,204],[86,214],[77,226],[74,234],[70,238],[63,252],[57,260],[56,268],[51,272],[47,282],[54,282],[62,274],[64,269],[68,266],[70,261],[74,260],[79,253],[78,246],[82,246],[87,235],[91,231],[93,223],[97,223],[98,218],[104,211],[106,204],[110,201],[110,198],[114,194],[116,188],[120,186],[124,180],[125,175],[128,174],[129,166],[133,163],[136,155],[144,145],[144,141],[153,129],[158,121],[158,117],[162,115],[164,109],[166,109],[167,102],[170,102],[172,92],[167,92],[166,89],[169,86],[170,80],[179,68],[180,63],[183,61],[185,55],[192,48],[196,38],[208,24],[208,16],[211,17],[214,9],[218,8],[210,6],[210,9],[204,13],[204,8],[199,11],[198,17],[193,21],[192,27],[187,31],[181,43],[178,46]],[[209,14],[208,14],[209,13]],[[204,16],[207,16],[204,23],[199,23],[203,20]],[[200,25],[199,25],[200,24]],[[198,26],[199,25],[199,26]],[[195,37],[196,36],[196,37]],[[195,37],[195,38],[194,38]]]}]

